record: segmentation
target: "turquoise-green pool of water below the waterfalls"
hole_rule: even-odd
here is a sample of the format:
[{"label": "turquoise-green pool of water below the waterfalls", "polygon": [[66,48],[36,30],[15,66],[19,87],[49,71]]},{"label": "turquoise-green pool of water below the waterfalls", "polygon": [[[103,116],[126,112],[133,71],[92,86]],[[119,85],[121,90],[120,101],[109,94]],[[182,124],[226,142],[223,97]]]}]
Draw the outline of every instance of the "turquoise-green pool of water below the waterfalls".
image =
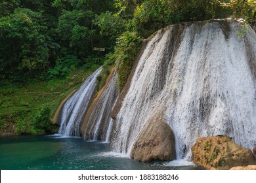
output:
[{"label": "turquoise-green pool of water below the waterfalls", "polygon": [[199,169],[141,163],[110,152],[109,144],[49,136],[0,137],[0,168],[14,170]]}]

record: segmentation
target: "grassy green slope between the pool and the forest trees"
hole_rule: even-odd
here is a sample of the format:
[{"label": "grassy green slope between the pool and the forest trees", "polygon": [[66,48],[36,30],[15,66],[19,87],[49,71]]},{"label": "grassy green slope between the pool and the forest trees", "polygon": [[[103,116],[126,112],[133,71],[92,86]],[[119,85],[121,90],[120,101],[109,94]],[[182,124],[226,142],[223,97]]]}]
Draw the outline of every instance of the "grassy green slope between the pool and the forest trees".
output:
[{"label": "grassy green slope between the pool and the forest trees", "polygon": [[[95,59],[95,63],[96,63]],[[65,63],[69,66],[69,63]],[[86,70],[75,69],[65,78],[33,81],[19,84],[0,81],[0,131],[16,134],[38,134],[56,132],[58,127],[49,118],[60,102],[99,65],[93,64]],[[49,112],[50,111],[50,112]]]}]

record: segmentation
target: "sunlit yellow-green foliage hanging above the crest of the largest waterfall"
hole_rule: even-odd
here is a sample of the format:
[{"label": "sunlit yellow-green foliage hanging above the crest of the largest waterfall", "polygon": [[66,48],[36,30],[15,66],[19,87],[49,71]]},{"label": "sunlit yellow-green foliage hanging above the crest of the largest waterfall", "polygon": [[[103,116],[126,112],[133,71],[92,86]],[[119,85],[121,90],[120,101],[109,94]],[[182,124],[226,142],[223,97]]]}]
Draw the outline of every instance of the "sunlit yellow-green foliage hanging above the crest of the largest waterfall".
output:
[{"label": "sunlit yellow-green foliage hanging above the crest of the largest waterfall", "polygon": [[167,25],[179,22],[209,20],[213,18],[245,18],[255,20],[256,3],[253,0],[145,0],[117,1],[122,9],[133,6],[133,26],[146,38]]}]

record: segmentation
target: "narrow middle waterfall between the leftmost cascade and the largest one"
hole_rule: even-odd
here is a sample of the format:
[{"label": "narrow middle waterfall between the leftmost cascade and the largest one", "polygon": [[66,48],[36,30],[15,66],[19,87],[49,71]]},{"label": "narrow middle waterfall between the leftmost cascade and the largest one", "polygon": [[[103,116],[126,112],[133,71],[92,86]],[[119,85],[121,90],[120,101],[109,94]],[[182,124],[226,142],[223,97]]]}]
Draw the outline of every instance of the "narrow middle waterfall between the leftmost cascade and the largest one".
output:
[{"label": "narrow middle waterfall between the leftmost cascade and the largest one", "polygon": [[[98,97],[92,111],[85,116],[85,129],[81,129],[85,139],[110,141],[113,120],[110,112],[117,100],[117,72],[112,73],[110,81]],[[84,127],[83,127],[84,128]]]}]

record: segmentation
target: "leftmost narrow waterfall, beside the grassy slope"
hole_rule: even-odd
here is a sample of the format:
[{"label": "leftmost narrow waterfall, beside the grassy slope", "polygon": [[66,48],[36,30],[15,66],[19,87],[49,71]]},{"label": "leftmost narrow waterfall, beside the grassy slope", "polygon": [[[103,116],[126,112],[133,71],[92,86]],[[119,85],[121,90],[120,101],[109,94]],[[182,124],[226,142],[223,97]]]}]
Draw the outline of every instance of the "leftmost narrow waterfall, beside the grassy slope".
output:
[{"label": "leftmost narrow waterfall, beside the grassy slope", "polygon": [[80,136],[79,128],[96,86],[96,77],[102,71],[97,69],[64,104],[61,113],[59,135]]}]

